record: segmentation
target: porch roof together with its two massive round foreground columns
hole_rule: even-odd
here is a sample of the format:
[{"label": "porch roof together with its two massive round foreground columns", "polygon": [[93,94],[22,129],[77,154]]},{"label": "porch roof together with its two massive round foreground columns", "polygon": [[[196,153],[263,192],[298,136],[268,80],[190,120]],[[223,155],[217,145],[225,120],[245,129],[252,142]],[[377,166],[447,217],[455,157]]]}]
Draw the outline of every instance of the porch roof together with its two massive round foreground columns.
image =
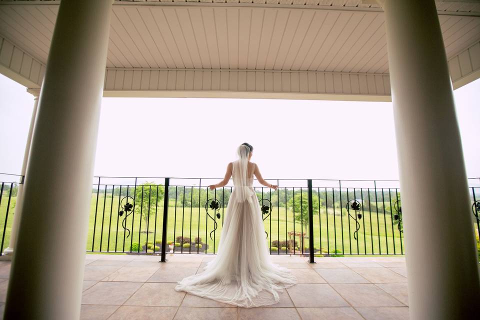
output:
[{"label": "porch roof together with its two massive round foreground columns", "polygon": [[40,88],[5,318],[79,316],[102,94],[391,96],[411,318],[478,312],[452,84],[480,76],[480,2],[218,2],[0,0],[0,71]]}]

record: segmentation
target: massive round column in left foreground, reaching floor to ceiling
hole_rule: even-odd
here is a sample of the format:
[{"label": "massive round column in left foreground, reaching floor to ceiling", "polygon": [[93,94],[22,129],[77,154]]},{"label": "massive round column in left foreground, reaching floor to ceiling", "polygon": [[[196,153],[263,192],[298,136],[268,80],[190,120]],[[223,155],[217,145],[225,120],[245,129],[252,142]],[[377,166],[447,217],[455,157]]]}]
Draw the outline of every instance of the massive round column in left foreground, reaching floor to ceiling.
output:
[{"label": "massive round column in left foreground, reaching floor to ceiling", "polygon": [[5,319],[78,319],[112,0],[62,0],[38,100]]}]

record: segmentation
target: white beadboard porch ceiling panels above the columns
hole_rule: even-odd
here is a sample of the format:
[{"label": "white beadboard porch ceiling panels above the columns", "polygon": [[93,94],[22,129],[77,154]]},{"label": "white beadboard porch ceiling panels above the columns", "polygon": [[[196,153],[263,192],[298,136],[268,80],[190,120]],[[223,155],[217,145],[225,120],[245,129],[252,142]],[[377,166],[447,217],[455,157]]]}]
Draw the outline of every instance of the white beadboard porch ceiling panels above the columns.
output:
[{"label": "white beadboard porch ceiling panels above the columns", "polygon": [[[115,1],[106,67],[388,74],[379,5],[200,1]],[[58,4],[0,0],[0,36],[45,64]],[[480,1],[436,4],[448,58],[480,40]]]}]

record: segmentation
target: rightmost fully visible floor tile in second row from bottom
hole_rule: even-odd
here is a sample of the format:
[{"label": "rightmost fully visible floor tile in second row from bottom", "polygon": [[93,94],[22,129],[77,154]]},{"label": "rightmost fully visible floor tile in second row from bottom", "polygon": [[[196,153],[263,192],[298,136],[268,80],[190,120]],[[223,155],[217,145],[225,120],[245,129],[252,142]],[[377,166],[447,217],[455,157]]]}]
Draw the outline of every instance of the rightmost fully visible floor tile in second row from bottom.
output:
[{"label": "rightmost fully visible floor tile in second row from bottom", "polygon": [[352,306],[403,306],[374,284],[331,284]]}]

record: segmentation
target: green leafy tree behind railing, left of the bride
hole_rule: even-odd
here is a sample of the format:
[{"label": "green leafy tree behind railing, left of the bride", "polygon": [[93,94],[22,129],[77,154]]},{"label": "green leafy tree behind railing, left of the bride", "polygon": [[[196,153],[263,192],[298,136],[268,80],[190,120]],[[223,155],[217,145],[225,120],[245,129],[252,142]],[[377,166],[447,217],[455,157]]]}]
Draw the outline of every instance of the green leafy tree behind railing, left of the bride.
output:
[{"label": "green leafy tree behind railing, left of the bride", "polygon": [[[162,207],[163,205],[164,192],[163,185],[153,182],[145,182],[136,186],[135,213],[141,213],[141,218],[145,221],[143,225],[146,232],[148,232],[147,224],[149,216],[154,215],[155,211],[158,210],[158,207]],[[131,194],[131,196],[133,196],[133,194]]]}]

